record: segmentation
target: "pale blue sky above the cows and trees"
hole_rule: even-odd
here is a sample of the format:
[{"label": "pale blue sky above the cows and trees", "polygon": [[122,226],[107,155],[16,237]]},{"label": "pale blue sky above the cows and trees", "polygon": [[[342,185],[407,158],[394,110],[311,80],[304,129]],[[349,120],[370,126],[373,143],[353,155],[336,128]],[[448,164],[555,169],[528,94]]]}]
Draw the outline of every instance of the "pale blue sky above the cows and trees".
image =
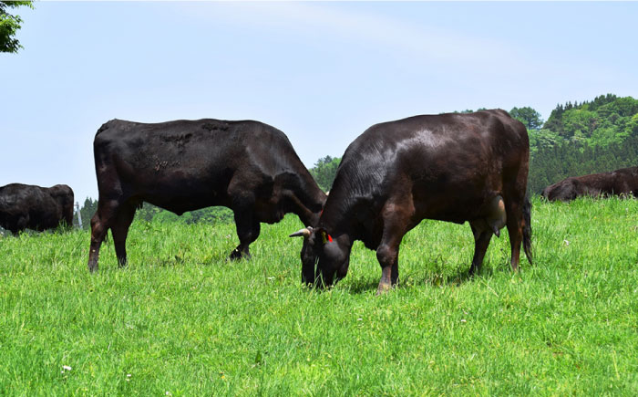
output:
[{"label": "pale blue sky above the cows and trees", "polygon": [[55,3],[0,54],[0,185],[97,198],[114,118],[261,120],[306,166],[376,122],[638,96],[638,3]]}]

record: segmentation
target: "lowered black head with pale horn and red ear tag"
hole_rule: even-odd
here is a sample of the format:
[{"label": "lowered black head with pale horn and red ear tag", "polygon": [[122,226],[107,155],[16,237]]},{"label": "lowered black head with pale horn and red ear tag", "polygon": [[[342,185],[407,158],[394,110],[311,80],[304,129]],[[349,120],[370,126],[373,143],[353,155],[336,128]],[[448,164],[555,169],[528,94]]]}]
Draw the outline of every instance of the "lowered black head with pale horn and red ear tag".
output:
[{"label": "lowered black head with pale horn and red ear tag", "polygon": [[333,238],[322,227],[306,227],[290,236],[304,237],[301,257],[305,285],[332,286],[348,273],[350,248],[345,235]]}]

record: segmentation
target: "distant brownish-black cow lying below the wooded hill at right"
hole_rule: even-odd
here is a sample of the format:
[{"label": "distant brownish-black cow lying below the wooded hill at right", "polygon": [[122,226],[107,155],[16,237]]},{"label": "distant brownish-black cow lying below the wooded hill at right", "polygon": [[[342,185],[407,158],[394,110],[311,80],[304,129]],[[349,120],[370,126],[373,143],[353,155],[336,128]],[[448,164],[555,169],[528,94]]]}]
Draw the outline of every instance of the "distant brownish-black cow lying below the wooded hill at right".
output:
[{"label": "distant brownish-black cow lying below the wooded hill at right", "polygon": [[638,167],[571,176],[546,187],[541,195],[550,201],[569,202],[581,195],[635,195],[634,192],[638,192]]}]

